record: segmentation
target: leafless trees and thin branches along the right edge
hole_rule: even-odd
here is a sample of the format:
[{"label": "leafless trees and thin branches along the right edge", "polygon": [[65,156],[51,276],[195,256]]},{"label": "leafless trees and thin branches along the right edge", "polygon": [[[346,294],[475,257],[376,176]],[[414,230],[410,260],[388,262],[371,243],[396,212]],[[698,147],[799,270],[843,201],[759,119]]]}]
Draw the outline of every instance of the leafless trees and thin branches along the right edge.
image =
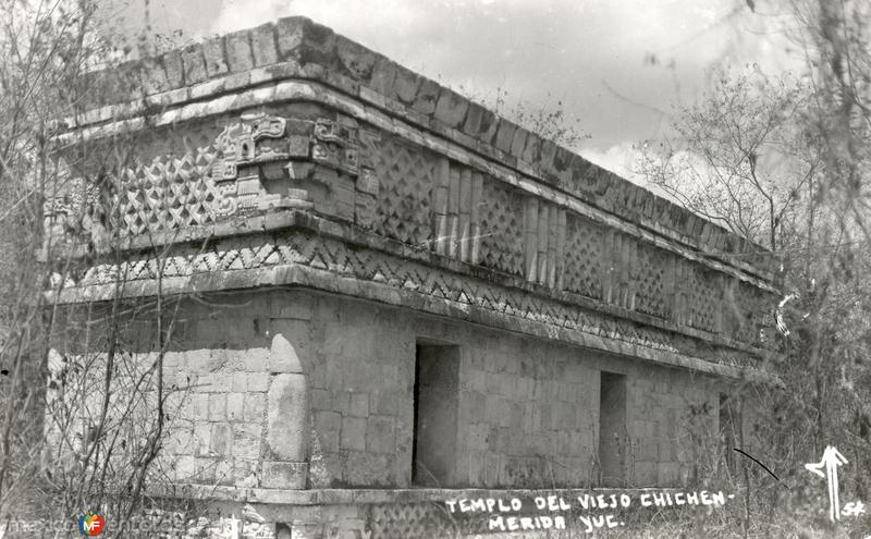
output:
[{"label": "leafless trees and thin branches along the right edge", "polygon": [[[640,169],[673,199],[753,240],[778,262],[784,297],[769,309],[781,326],[783,359],[770,367],[784,387],[745,384],[737,392],[762,403],[757,456],[793,490],[784,497],[783,485],[744,482],[769,489],[756,499],[773,501],[772,515],[808,531],[814,525],[800,515],[808,511],[799,503],[809,480],[802,463],[826,445],[851,455],[842,497],[868,497],[871,8],[795,0],[757,11],[788,15],[803,70],[721,77],[677,114],[667,140],[648,143]],[[747,513],[745,534],[749,505]]]}]

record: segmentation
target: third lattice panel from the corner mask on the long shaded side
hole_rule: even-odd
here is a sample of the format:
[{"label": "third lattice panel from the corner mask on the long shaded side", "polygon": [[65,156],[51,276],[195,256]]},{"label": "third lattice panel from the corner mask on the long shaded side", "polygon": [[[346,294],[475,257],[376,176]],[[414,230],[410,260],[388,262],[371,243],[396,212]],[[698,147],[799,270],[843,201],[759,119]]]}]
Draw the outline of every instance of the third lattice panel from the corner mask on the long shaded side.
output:
[{"label": "third lattice panel from the corner mask on the long shaded side", "polygon": [[569,213],[566,219],[565,290],[602,298],[602,228]]}]

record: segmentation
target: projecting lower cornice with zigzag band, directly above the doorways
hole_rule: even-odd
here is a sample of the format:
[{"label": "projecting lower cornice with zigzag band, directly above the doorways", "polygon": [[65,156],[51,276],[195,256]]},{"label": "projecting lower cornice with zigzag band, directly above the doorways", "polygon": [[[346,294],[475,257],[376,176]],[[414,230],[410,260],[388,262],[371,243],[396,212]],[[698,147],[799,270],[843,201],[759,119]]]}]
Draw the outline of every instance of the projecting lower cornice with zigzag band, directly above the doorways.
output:
[{"label": "projecting lower cornice with zigzag band, directly above the doorways", "polygon": [[[143,256],[128,261],[126,269],[95,266],[79,280],[79,285],[47,293],[47,299],[75,304],[105,302],[119,293],[122,297],[134,298],[159,292],[184,295],[303,286],[661,365],[729,378],[764,379],[769,376],[753,367],[688,355],[679,350],[679,344],[674,347],[658,343],[680,334],[699,344],[723,347],[724,353],[732,350],[739,355],[765,357],[768,351],[425,249],[413,249],[401,242],[305,211],[272,213],[248,218],[244,224],[237,220],[235,225],[231,222],[216,226],[226,229],[204,229],[201,234],[188,233],[183,238],[152,238],[155,244],[148,246]],[[206,232],[214,235],[206,235]],[[235,237],[221,235],[221,232],[233,233]],[[148,250],[160,252],[160,241],[181,248],[186,245],[187,252],[176,249],[165,256],[167,267],[158,282],[149,269],[152,265]],[[126,277],[119,284],[114,273]],[[645,327],[650,329],[642,330]],[[636,332],[639,336],[633,336]],[[710,356],[710,352],[703,355]]]}]

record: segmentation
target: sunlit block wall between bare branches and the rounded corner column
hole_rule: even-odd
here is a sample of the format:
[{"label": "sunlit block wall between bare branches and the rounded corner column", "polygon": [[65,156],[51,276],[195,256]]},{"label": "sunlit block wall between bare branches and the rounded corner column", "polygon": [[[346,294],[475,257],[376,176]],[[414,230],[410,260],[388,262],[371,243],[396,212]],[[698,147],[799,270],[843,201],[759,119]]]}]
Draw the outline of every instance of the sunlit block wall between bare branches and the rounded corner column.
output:
[{"label": "sunlit block wall between bare branches and the rounded corner column", "polygon": [[174,375],[183,405],[163,456],[181,482],[269,482],[262,465],[267,402],[281,366],[259,319],[238,310],[185,313],[177,335],[185,350],[167,354],[164,369]]}]

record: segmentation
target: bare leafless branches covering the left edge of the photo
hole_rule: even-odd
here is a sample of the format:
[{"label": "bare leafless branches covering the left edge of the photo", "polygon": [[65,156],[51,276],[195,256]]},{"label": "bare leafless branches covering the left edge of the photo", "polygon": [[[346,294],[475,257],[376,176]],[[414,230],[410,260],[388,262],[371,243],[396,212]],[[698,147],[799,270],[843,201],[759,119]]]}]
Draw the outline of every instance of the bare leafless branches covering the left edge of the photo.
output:
[{"label": "bare leafless branches covering the left edge of the photo", "polygon": [[[131,302],[114,225],[147,133],[60,137],[94,106],[86,73],[118,56],[100,13],[90,0],[0,9],[0,529],[13,515],[72,525],[88,510],[122,529],[162,480],[183,397],[163,372],[181,301],[161,289],[171,247],[152,243],[158,292]],[[99,265],[114,268],[108,296],[70,301]]]}]

